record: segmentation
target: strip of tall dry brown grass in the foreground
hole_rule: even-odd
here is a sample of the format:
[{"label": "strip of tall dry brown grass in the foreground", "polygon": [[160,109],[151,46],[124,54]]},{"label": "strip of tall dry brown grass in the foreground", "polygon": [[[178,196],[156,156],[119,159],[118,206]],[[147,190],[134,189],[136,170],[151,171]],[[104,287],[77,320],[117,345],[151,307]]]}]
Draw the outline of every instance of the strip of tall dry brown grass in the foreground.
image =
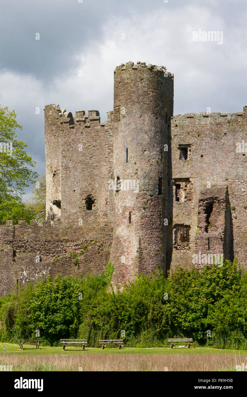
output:
[{"label": "strip of tall dry brown grass in the foreground", "polygon": [[[13,371],[220,371],[247,364],[246,355],[230,354],[83,354],[83,355],[0,355],[0,365]],[[80,368],[80,369],[79,369]]]}]

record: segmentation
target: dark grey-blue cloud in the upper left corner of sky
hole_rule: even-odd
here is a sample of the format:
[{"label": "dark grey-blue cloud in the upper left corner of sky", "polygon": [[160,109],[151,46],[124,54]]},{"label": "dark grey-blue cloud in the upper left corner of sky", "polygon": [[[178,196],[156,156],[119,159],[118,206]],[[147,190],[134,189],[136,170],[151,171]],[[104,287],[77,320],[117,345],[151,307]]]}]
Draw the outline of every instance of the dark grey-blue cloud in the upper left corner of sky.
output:
[{"label": "dark grey-blue cloud in the upper left corner of sky", "polygon": [[100,44],[107,19],[140,15],[150,4],[155,6],[149,0],[8,0],[0,14],[0,69],[50,80],[71,66],[74,55]]}]

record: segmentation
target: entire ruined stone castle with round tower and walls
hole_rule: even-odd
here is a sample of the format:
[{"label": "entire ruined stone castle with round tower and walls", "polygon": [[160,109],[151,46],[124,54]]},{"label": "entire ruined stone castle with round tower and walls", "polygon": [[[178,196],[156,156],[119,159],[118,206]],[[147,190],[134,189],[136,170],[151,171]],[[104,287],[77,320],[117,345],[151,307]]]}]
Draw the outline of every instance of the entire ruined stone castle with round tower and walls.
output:
[{"label": "entire ruined stone castle with round tower and walls", "polygon": [[121,284],[195,255],[247,267],[247,106],[174,116],[173,83],[163,66],[127,62],[104,123],[97,110],[45,106],[47,220],[0,226],[0,296],[109,261]]}]

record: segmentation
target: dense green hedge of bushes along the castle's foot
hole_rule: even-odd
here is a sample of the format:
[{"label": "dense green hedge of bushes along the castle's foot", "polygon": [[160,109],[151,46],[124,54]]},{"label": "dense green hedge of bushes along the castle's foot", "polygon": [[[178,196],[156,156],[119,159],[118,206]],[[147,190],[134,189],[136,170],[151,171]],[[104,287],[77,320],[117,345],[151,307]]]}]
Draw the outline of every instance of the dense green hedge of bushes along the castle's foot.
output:
[{"label": "dense green hedge of bushes along the castle's foot", "polygon": [[[124,339],[126,346],[167,345],[168,337],[193,337],[199,345],[244,349],[247,339],[247,273],[226,260],[222,267],[178,268],[113,291],[113,266],[101,276],[61,278],[27,284],[0,299],[0,340],[35,337]],[[209,336],[211,333],[211,336]],[[125,335],[125,336],[124,336]]]}]

